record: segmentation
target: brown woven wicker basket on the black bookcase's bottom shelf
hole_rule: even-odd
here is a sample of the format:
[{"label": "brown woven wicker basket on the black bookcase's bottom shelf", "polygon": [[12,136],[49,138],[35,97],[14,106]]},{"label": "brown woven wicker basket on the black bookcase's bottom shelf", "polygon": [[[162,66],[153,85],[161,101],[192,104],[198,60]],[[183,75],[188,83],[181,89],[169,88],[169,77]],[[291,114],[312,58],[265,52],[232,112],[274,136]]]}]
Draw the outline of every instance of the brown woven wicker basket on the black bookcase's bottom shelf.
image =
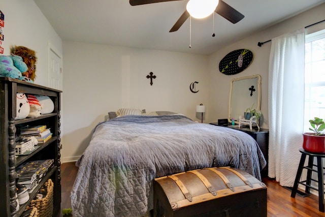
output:
[{"label": "brown woven wicker basket on the black bookcase's bottom shelf", "polygon": [[40,193],[45,195],[42,199],[35,199],[30,202],[31,207],[37,208],[37,217],[51,217],[53,214],[53,187],[54,184],[51,179],[48,179]]}]

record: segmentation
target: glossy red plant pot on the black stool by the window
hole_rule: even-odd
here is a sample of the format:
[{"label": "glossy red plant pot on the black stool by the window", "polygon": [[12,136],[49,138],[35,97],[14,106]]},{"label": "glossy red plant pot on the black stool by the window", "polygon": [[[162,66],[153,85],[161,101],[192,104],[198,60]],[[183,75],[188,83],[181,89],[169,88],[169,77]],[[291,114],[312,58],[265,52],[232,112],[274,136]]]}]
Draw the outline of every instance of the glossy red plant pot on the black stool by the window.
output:
[{"label": "glossy red plant pot on the black stool by the window", "polygon": [[315,135],[314,133],[303,133],[303,148],[314,153],[325,153],[325,134]]}]

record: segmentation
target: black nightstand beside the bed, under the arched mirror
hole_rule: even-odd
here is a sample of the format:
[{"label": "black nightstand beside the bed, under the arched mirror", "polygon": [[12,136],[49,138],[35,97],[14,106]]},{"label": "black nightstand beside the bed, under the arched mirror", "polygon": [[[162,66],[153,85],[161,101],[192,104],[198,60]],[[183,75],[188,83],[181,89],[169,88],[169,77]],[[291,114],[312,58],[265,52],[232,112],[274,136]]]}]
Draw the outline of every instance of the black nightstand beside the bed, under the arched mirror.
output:
[{"label": "black nightstand beside the bed, under the arched mirror", "polygon": [[245,126],[245,128],[238,128],[238,125],[218,125],[218,123],[210,123],[210,125],[225,127],[225,128],[232,128],[235,130],[239,130],[242,132],[247,133],[257,142],[259,148],[261,149],[264,158],[267,162],[266,167],[262,170],[262,176],[268,176],[268,163],[269,163],[269,129],[249,129],[249,126]]}]

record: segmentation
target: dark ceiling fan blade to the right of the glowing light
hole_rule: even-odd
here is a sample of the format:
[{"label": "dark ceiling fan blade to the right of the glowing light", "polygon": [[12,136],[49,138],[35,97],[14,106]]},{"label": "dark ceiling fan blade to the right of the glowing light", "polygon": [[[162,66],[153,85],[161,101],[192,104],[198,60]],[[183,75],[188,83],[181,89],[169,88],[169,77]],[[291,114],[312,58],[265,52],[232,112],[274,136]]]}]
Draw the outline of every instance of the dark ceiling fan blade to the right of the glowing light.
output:
[{"label": "dark ceiling fan blade to the right of the glowing light", "polygon": [[237,10],[235,10],[233,7],[226,4],[222,0],[219,0],[219,4],[215,9],[215,13],[221,15],[225,19],[228,19],[232,23],[237,23],[238,21],[242,20],[245,17],[240,12],[238,12]]}]

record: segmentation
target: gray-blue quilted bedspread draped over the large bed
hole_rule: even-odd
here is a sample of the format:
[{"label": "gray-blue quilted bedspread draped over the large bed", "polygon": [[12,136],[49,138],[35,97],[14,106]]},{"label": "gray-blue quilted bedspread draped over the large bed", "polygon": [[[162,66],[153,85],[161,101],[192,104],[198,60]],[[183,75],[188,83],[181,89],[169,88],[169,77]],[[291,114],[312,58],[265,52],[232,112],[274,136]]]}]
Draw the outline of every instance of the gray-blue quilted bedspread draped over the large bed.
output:
[{"label": "gray-blue quilted bedspread draped over the large bed", "polygon": [[241,131],[184,115],[123,116],[96,126],[78,160],[73,216],[142,216],[153,208],[153,179],[231,166],[261,180],[266,161]]}]

